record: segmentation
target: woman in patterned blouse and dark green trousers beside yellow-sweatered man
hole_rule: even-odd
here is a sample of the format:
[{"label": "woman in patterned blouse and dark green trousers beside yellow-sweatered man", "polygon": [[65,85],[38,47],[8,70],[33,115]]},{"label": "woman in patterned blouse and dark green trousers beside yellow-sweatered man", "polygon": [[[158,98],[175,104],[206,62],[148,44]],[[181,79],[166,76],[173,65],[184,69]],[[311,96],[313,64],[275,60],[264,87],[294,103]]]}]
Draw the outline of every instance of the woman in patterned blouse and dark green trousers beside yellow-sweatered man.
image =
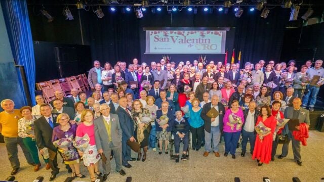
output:
[{"label": "woman in patterned blouse and dark green trousers beside yellow-sweatered man", "polygon": [[28,152],[30,153],[33,163],[35,164],[34,171],[36,172],[41,166],[41,162],[39,162],[38,158],[38,149],[34,141],[35,134],[33,125],[36,119],[31,115],[30,106],[24,106],[20,108],[20,113],[23,117],[18,120],[18,136],[22,138],[23,144],[26,146]]}]

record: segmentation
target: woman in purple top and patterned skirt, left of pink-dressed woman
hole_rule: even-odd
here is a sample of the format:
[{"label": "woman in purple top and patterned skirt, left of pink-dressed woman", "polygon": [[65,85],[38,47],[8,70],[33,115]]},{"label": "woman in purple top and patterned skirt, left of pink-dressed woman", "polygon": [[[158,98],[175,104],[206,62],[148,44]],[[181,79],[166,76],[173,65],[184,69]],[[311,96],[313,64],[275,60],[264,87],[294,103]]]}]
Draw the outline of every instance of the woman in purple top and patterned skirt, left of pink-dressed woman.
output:
[{"label": "woman in purple top and patterned skirt, left of pink-dressed woman", "polygon": [[[76,132],[76,124],[70,124],[69,123],[69,115],[66,113],[59,114],[56,119],[56,123],[59,123],[60,125],[53,128],[53,134],[52,134],[52,142],[64,139],[64,138],[70,138],[75,139],[75,132]],[[77,153],[75,147],[73,146],[73,143],[71,142],[70,145],[67,148],[60,148],[58,147],[58,151],[61,153],[64,163],[69,165],[72,169],[72,177],[80,177],[85,178],[86,176],[81,174],[80,172],[80,156]]]}]

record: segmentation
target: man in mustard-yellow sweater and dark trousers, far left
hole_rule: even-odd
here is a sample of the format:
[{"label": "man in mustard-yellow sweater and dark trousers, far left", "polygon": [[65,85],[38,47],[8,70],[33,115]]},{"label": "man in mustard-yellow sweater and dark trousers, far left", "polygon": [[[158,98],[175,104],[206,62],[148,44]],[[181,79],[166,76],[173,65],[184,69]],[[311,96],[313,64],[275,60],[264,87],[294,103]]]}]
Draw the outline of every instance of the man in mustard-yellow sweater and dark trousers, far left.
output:
[{"label": "man in mustard-yellow sweater and dark trousers, far left", "polygon": [[17,145],[20,145],[28,164],[36,164],[34,164],[30,153],[23,144],[22,138],[18,136],[18,120],[22,118],[20,110],[14,109],[15,103],[10,99],[5,99],[0,104],[4,110],[0,112],[0,133],[4,136],[8,158],[12,167],[11,175],[15,175],[20,168]]}]

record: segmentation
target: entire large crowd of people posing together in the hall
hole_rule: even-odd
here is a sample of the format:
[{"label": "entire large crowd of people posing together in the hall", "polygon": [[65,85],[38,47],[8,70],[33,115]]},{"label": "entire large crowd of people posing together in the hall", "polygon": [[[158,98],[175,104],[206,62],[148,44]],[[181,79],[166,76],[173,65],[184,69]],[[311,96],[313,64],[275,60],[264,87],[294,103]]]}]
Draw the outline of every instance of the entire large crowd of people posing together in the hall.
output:
[{"label": "entire large crowd of people posing together in the hall", "polygon": [[[112,158],[115,170],[125,175],[123,166],[131,168],[130,161],[146,161],[149,149],[158,155],[169,154],[171,142],[176,163],[188,160],[190,149],[203,147],[204,157],[211,152],[220,157],[222,136],[224,157],[230,153],[235,159],[239,144],[240,156],[245,157],[249,142],[251,157],[259,166],[274,161],[279,140],[286,138],[278,158],[288,155],[292,141],[294,159],[302,165],[300,139],[288,124],[278,127],[277,123],[284,118],[299,119],[296,130],[308,129],[309,111],[314,110],[324,83],[322,60],[311,64],[307,61],[298,72],[294,60],[288,65],[272,60],[267,65],[264,60],[247,62],[242,69],[239,64],[210,61],[204,65],[195,60],[176,65],[164,59],[150,65],[134,59],[128,69],[125,62],[105,63],[102,68],[95,61],[88,75],[90,96],[72,88],[71,96],[64,97],[62,90],[56,90],[50,103],[37,95],[35,106],[20,110],[14,109],[10,99],[1,102],[0,132],[11,174],[20,168],[17,144],[34,171],[41,167],[38,151],[42,154],[46,169],[52,169],[50,180],[59,173],[59,154],[71,177],[86,177],[80,172],[83,163],[95,181],[100,175],[107,179]],[[268,132],[257,132],[259,126]],[[84,138],[88,147],[79,148]],[[72,142],[61,147],[66,141]],[[131,156],[134,142],[140,146],[137,158]],[[101,159],[103,171],[98,166]]]}]

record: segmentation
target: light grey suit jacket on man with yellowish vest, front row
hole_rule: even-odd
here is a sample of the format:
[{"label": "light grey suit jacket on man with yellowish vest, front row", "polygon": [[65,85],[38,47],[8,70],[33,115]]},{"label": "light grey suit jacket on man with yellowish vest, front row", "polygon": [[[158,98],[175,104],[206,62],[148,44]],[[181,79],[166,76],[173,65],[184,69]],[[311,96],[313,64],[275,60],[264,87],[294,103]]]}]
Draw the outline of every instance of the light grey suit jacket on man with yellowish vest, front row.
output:
[{"label": "light grey suit jacket on man with yellowish vest, front row", "polygon": [[[97,150],[109,150],[109,136],[105,126],[106,120],[101,115],[94,120],[95,125],[95,138]],[[111,142],[114,147],[121,147],[121,138],[123,136],[123,130],[120,127],[117,114],[110,114],[110,136]]]}]

